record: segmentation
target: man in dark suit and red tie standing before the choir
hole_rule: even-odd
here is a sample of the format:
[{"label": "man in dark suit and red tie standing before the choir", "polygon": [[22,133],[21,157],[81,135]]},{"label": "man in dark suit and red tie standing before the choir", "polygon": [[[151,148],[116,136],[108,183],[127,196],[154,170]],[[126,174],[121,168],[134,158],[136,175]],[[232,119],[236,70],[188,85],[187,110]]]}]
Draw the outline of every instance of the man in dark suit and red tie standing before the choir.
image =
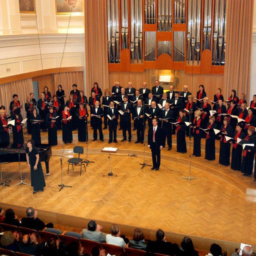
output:
[{"label": "man in dark suit and red tie standing before the choir", "polygon": [[161,149],[163,149],[163,131],[161,126],[157,125],[157,119],[152,119],[152,126],[149,127],[149,132],[147,135],[147,144],[149,149],[151,149],[153,167],[151,170],[158,171],[161,161]]}]

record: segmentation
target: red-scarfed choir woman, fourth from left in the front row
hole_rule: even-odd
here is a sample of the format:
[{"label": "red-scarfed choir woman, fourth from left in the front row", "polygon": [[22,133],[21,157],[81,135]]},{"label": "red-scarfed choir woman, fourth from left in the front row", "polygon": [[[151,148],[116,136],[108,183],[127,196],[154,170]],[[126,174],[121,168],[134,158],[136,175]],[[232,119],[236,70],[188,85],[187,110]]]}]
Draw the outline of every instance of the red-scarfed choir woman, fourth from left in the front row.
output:
[{"label": "red-scarfed choir woman, fourth from left in the front row", "polygon": [[57,140],[57,114],[54,112],[54,107],[49,108],[49,113],[46,115],[46,122],[48,126],[48,144],[55,146],[58,144]]}]

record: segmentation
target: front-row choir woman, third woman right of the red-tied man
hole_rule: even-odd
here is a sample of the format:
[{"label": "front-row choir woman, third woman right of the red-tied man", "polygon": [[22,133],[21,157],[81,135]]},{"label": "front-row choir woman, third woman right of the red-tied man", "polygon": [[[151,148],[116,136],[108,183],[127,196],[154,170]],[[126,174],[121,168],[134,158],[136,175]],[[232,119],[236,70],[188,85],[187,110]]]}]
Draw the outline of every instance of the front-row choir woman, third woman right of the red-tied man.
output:
[{"label": "front-row choir woman, third woman right of the red-tied man", "polygon": [[205,159],[211,161],[215,160],[215,133],[213,129],[217,129],[217,124],[215,123],[215,116],[209,118],[209,123],[206,125],[206,129],[211,129],[205,131]]}]

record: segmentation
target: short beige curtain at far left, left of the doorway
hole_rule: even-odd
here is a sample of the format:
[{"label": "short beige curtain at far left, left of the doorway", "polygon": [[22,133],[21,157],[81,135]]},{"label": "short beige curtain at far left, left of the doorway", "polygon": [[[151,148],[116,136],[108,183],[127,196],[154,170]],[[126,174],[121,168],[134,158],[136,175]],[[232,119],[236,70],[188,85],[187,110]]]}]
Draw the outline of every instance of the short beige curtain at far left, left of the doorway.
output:
[{"label": "short beige curtain at far left, left of the doorway", "polygon": [[17,94],[18,100],[23,105],[21,109],[22,117],[26,118],[25,103],[31,92],[33,92],[32,78],[4,83],[0,85],[0,105],[5,106],[10,114],[9,106],[13,100],[12,95]]}]

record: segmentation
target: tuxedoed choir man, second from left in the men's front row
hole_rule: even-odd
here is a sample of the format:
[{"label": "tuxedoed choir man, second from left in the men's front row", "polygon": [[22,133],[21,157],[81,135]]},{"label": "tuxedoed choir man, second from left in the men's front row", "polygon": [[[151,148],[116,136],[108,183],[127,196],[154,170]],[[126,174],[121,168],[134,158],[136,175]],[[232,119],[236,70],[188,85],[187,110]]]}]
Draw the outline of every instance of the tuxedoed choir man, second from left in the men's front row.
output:
[{"label": "tuxedoed choir man, second from left in the men's front row", "polygon": [[[107,108],[107,125],[109,126],[109,144],[114,142],[118,143],[116,140],[116,127],[118,125],[118,110],[114,107],[114,102],[110,102],[110,107]],[[111,119],[110,119],[110,118]],[[114,140],[113,140],[114,135]]]}]

